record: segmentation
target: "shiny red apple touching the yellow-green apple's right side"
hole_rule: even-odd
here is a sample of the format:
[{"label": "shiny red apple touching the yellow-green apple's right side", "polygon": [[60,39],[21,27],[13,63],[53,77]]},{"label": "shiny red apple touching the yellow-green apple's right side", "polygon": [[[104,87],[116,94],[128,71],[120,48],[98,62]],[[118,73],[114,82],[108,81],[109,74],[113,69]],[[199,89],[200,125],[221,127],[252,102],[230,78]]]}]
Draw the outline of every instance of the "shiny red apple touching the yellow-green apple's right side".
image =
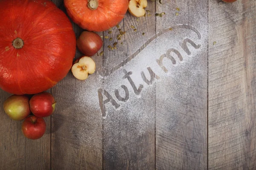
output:
[{"label": "shiny red apple touching the yellow-green apple's right side", "polygon": [[52,94],[43,92],[33,96],[29,101],[29,105],[31,112],[35,116],[47,117],[54,112],[56,102]]}]

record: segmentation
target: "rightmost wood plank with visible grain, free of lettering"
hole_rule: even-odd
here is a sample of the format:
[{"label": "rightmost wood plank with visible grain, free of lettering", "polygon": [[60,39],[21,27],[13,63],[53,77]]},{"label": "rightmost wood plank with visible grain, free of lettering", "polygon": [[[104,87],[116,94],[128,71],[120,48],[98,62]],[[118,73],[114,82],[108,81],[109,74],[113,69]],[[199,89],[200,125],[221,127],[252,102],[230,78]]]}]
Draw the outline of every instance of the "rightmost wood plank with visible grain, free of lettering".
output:
[{"label": "rightmost wood plank with visible grain, free of lettering", "polygon": [[209,1],[211,170],[256,169],[255,21],[255,0]]}]

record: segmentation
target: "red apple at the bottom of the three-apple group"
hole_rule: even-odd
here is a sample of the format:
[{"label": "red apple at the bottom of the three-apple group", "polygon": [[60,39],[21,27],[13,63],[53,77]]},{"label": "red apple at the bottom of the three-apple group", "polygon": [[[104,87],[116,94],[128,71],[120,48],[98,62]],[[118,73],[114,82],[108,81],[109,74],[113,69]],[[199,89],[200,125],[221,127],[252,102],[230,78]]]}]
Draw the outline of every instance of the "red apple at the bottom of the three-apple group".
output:
[{"label": "red apple at the bottom of the three-apple group", "polygon": [[23,135],[28,139],[39,139],[44,136],[46,123],[43,118],[27,117],[21,125]]}]

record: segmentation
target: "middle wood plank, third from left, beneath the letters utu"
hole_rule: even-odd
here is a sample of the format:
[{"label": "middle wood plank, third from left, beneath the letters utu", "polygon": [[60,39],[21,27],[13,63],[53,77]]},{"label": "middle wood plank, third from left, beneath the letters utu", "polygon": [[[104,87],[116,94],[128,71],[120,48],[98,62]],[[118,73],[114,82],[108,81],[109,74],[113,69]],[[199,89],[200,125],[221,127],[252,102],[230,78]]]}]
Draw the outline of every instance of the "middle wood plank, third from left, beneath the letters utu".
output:
[{"label": "middle wood plank, third from left, beneath the letters utu", "polygon": [[[153,16],[138,20],[127,12],[124,21],[119,24],[119,29],[126,33],[118,41],[116,50],[108,51],[108,40],[105,40],[103,88],[116,102],[106,103],[107,113],[103,115],[106,170],[153,170],[155,167],[155,89],[148,88],[149,85],[143,82],[141,71],[149,77],[146,66],[136,62],[140,58],[140,52],[148,45],[147,40],[155,36],[155,2],[148,1],[147,9]],[[116,39],[118,28],[115,27],[112,31],[113,38]],[[134,59],[131,60],[132,58]],[[141,62],[142,58],[139,60]],[[134,85],[131,85],[133,82]],[[105,95],[103,97],[106,99]]]}]

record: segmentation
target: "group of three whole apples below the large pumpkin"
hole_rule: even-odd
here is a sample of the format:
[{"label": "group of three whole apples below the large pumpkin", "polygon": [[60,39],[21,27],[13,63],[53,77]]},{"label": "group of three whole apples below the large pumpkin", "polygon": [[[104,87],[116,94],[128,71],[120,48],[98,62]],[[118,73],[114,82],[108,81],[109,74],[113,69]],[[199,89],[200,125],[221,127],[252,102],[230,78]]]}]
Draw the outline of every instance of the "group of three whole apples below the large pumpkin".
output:
[{"label": "group of three whole apples below the large pumpkin", "polygon": [[52,94],[43,92],[29,98],[27,95],[12,95],[3,103],[3,109],[13,120],[23,120],[21,130],[28,139],[44,136],[46,123],[43,117],[50,116],[55,110]]}]

